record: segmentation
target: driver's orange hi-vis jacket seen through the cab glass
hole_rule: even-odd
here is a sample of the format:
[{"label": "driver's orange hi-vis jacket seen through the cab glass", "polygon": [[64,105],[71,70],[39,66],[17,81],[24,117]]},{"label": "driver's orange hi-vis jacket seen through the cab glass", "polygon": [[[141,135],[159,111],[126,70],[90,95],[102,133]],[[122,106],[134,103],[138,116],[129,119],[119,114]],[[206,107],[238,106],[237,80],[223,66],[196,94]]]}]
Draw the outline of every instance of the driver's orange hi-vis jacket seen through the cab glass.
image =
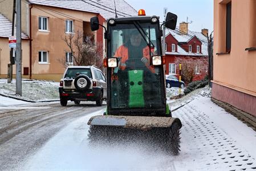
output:
[{"label": "driver's orange hi-vis jacket seen through the cab glass", "polygon": [[[151,50],[153,52],[153,49]],[[125,66],[122,66],[122,64],[125,64],[125,62],[128,60],[128,47],[121,45],[116,50],[116,54],[114,55],[117,58],[121,58],[120,62],[120,68],[121,70],[125,70]],[[152,72],[155,73],[155,69],[150,65],[150,55],[149,55],[149,47],[146,46],[143,48],[143,57],[148,59],[148,62],[145,64],[147,68]],[[142,57],[141,57],[142,58]]]}]

